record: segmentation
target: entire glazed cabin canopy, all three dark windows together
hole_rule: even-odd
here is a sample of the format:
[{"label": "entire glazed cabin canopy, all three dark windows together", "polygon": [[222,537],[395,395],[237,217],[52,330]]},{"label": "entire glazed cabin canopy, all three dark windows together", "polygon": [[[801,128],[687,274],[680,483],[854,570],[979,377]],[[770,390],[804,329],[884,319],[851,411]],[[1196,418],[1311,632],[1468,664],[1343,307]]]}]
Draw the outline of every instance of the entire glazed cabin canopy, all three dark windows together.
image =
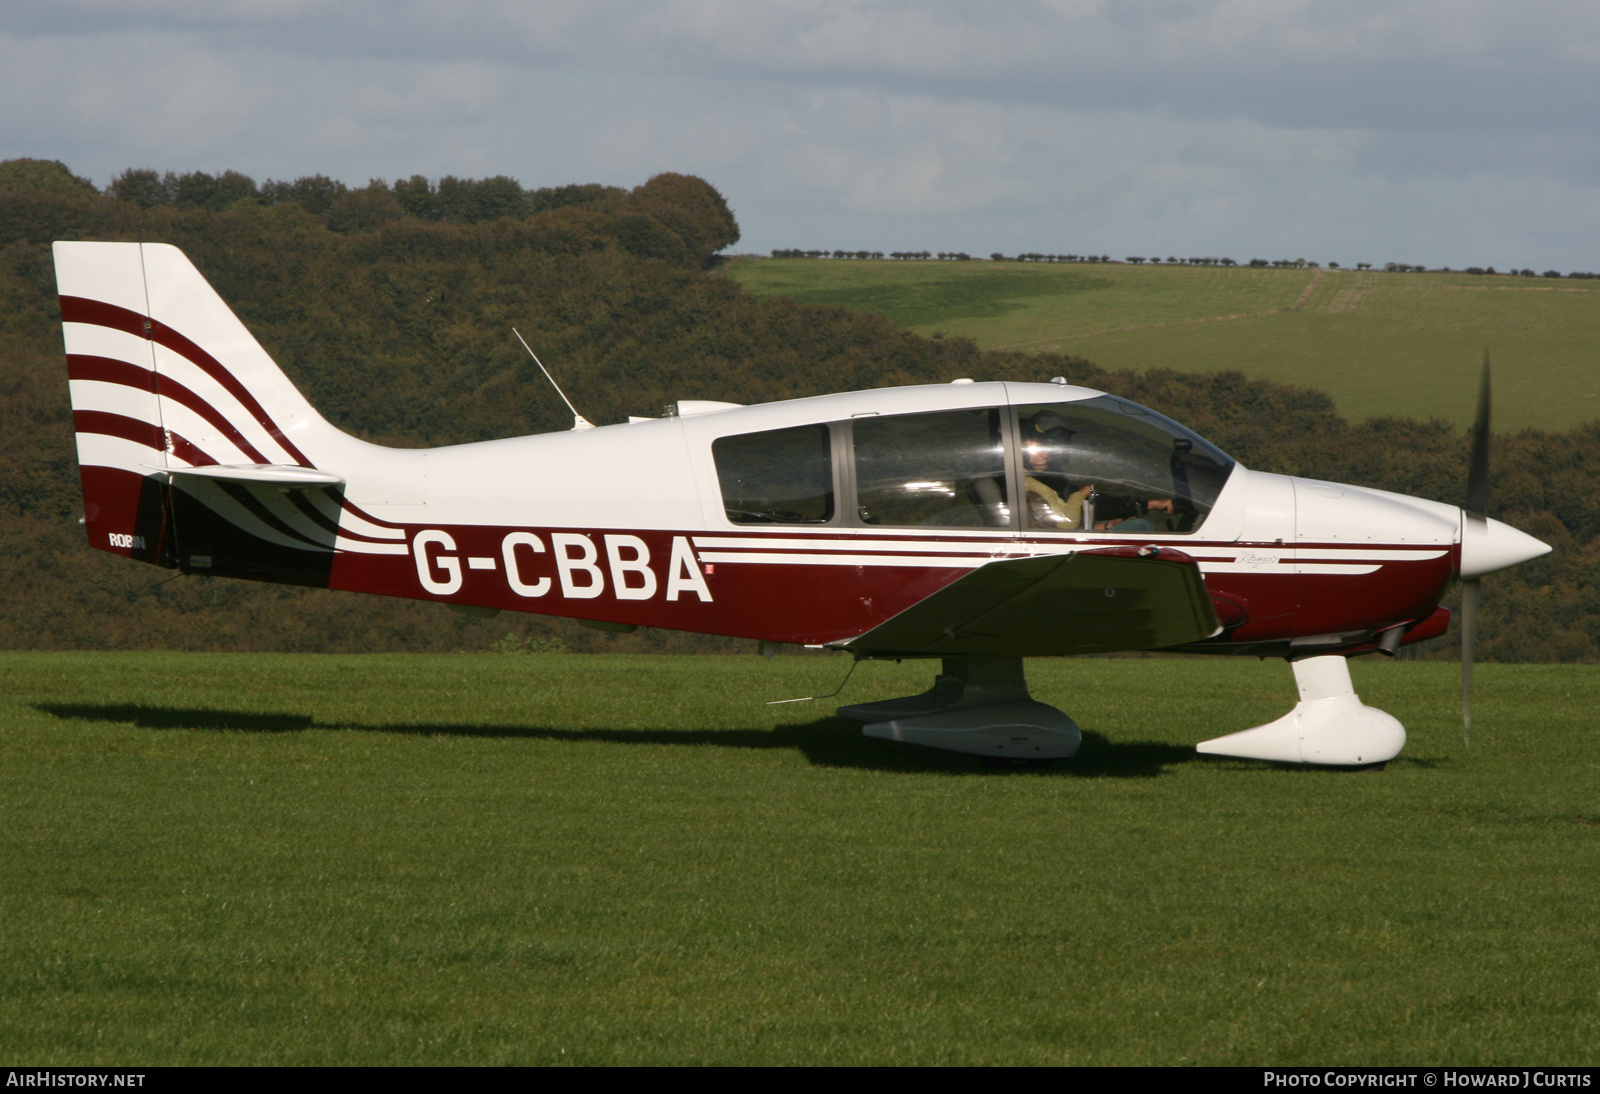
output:
[{"label": "entire glazed cabin canopy, all three dark windows together", "polygon": [[1115,395],[739,433],[712,457],[736,525],[1120,534],[1195,531],[1234,470]]}]

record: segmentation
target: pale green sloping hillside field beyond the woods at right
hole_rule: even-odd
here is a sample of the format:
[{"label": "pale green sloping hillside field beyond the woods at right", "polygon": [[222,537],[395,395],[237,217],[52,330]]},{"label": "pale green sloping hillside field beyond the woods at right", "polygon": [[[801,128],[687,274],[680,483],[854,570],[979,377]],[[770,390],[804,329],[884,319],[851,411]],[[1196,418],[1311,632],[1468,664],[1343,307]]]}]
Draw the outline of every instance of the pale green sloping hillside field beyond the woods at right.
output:
[{"label": "pale green sloping hillside field beyond the woods at right", "polygon": [[731,277],[757,296],[880,312],[986,349],[1077,353],[1104,368],[1237,368],[1320,387],[1354,421],[1466,425],[1488,349],[1496,430],[1600,417],[1600,281],[830,259],[742,259]]}]

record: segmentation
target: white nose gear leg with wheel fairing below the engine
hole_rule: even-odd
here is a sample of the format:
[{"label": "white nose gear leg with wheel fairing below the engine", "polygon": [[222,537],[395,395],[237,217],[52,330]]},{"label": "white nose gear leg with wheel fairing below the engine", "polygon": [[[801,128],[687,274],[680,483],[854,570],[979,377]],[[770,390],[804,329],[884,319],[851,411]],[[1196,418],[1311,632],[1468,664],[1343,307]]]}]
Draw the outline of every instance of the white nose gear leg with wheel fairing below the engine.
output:
[{"label": "white nose gear leg with wheel fairing below the engine", "polygon": [[1360,768],[1394,760],[1405,749],[1405,726],[1362,704],[1350,662],[1339,656],[1294,662],[1299,702],[1277,721],[1202,741],[1197,752],[1278,763]]}]

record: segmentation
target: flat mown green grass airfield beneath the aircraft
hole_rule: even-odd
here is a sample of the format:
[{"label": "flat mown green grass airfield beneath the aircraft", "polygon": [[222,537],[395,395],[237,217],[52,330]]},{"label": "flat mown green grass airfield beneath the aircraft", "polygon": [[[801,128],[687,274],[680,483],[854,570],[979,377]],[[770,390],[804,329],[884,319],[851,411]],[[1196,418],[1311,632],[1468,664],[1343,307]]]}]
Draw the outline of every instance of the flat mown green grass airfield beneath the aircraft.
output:
[{"label": "flat mown green grass airfield beneath the aircraft", "polygon": [[[1040,661],[1048,773],[827,657],[0,654],[43,1064],[1587,1064],[1592,667],[1355,664],[1384,771],[1198,758],[1282,664]],[[842,701],[920,689],[867,664]],[[626,681],[627,686],[618,686]]]}]

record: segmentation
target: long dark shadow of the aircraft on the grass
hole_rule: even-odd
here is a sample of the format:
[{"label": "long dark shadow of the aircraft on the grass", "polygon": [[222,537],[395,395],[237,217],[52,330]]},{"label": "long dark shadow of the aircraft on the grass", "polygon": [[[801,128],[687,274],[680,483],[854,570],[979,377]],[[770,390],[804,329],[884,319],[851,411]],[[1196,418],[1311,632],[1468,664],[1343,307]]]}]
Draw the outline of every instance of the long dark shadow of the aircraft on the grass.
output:
[{"label": "long dark shadow of the aircraft on the grass", "polygon": [[1083,733],[1083,747],[1072,760],[1048,768],[987,768],[978,757],[920,749],[861,736],[859,723],[845,718],[779,725],[773,729],[560,729],[555,726],[493,726],[470,723],[318,721],[302,713],[246,713],[214,707],[154,707],[144,704],[35,704],[35,710],[72,721],[133,725],[141,729],[208,733],[392,733],[414,737],[510,737],[566,741],[573,744],[712,745],[718,749],[794,749],[826,768],[941,774],[1051,774],[1075,777],[1150,779],[1197,753],[1181,745],[1133,741],[1112,742],[1094,731]]}]

